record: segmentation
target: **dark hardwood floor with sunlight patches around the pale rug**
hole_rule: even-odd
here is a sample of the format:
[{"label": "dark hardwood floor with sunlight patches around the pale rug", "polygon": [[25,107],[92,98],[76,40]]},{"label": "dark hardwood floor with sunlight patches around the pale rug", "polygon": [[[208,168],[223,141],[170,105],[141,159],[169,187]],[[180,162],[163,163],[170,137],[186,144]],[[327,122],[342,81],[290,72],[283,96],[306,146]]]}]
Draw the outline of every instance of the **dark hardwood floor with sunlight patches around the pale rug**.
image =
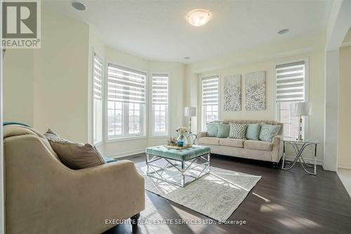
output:
[{"label": "dark hardwood floor with sunlight patches around the pale rug", "polygon": [[[143,162],[145,155],[126,159]],[[211,164],[262,176],[230,216],[229,220],[246,221],[245,225],[139,225],[133,233],[351,233],[351,199],[335,172],[318,167],[317,176],[311,176],[299,165],[282,171],[265,162],[220,155],[213,155]],[[140,219],[209,219],[148,191],[145,201]],[[105,233],[132,233],[132,228],[121,224]]]}]

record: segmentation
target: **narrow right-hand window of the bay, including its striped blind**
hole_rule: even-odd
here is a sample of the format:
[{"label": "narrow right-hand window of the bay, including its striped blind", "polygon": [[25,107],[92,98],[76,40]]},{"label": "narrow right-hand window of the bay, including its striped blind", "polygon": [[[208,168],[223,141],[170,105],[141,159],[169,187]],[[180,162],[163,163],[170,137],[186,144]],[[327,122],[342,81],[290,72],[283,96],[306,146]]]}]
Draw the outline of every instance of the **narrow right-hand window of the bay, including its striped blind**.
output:
[{"label": "narrow right-hand window of the bay, including its striped blind", "polygon": [[152,74],[152,135],[168,136],[168,74]]}]

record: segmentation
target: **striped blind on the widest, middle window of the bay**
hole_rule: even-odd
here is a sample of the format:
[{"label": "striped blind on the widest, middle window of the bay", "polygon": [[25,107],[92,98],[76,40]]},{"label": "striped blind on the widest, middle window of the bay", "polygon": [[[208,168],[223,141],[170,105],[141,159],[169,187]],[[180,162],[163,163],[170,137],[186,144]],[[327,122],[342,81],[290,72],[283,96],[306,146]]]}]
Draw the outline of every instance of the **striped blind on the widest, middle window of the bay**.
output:
[{"label": "striped blind on the widest, middle window of the bay", "polygon": [[145,104],[146,73],[109,63],[107,100]]}]

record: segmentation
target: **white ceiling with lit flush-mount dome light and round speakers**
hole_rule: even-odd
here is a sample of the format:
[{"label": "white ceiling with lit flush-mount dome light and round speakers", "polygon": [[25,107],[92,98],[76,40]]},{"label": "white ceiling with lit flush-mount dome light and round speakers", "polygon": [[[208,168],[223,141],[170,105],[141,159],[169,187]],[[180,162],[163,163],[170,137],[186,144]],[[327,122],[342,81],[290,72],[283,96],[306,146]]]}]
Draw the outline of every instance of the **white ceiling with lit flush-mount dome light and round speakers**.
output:
[{"label": "white ceiling with lit flush-mount dome light and round speakers", "polygon": [[[105,44],[150,60],[192,63],[326,30],[332,0],[305,1],[49,1],[55,11],[95,25]],[[194,8],[213,12],[203,27],[187,23]],[[289,28],[290,33],[277,31]],[[183,57],[190,56],[190,60]]]}]

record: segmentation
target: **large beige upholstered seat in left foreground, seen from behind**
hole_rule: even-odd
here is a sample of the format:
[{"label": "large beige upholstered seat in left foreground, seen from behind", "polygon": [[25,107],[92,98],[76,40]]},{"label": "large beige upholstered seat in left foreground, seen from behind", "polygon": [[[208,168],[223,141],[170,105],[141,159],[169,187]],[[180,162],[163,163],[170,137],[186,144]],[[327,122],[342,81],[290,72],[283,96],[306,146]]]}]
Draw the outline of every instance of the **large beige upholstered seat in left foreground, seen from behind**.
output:
[{"label": "large beige upholstered seat in left foreground, seen from behind", "polygon": [[[102,233],[145,208],[144,179],[121,160],[72,170],[34,129],[4,127],[6,233]],[[115,225],[115,224],[114,224]]]}]

